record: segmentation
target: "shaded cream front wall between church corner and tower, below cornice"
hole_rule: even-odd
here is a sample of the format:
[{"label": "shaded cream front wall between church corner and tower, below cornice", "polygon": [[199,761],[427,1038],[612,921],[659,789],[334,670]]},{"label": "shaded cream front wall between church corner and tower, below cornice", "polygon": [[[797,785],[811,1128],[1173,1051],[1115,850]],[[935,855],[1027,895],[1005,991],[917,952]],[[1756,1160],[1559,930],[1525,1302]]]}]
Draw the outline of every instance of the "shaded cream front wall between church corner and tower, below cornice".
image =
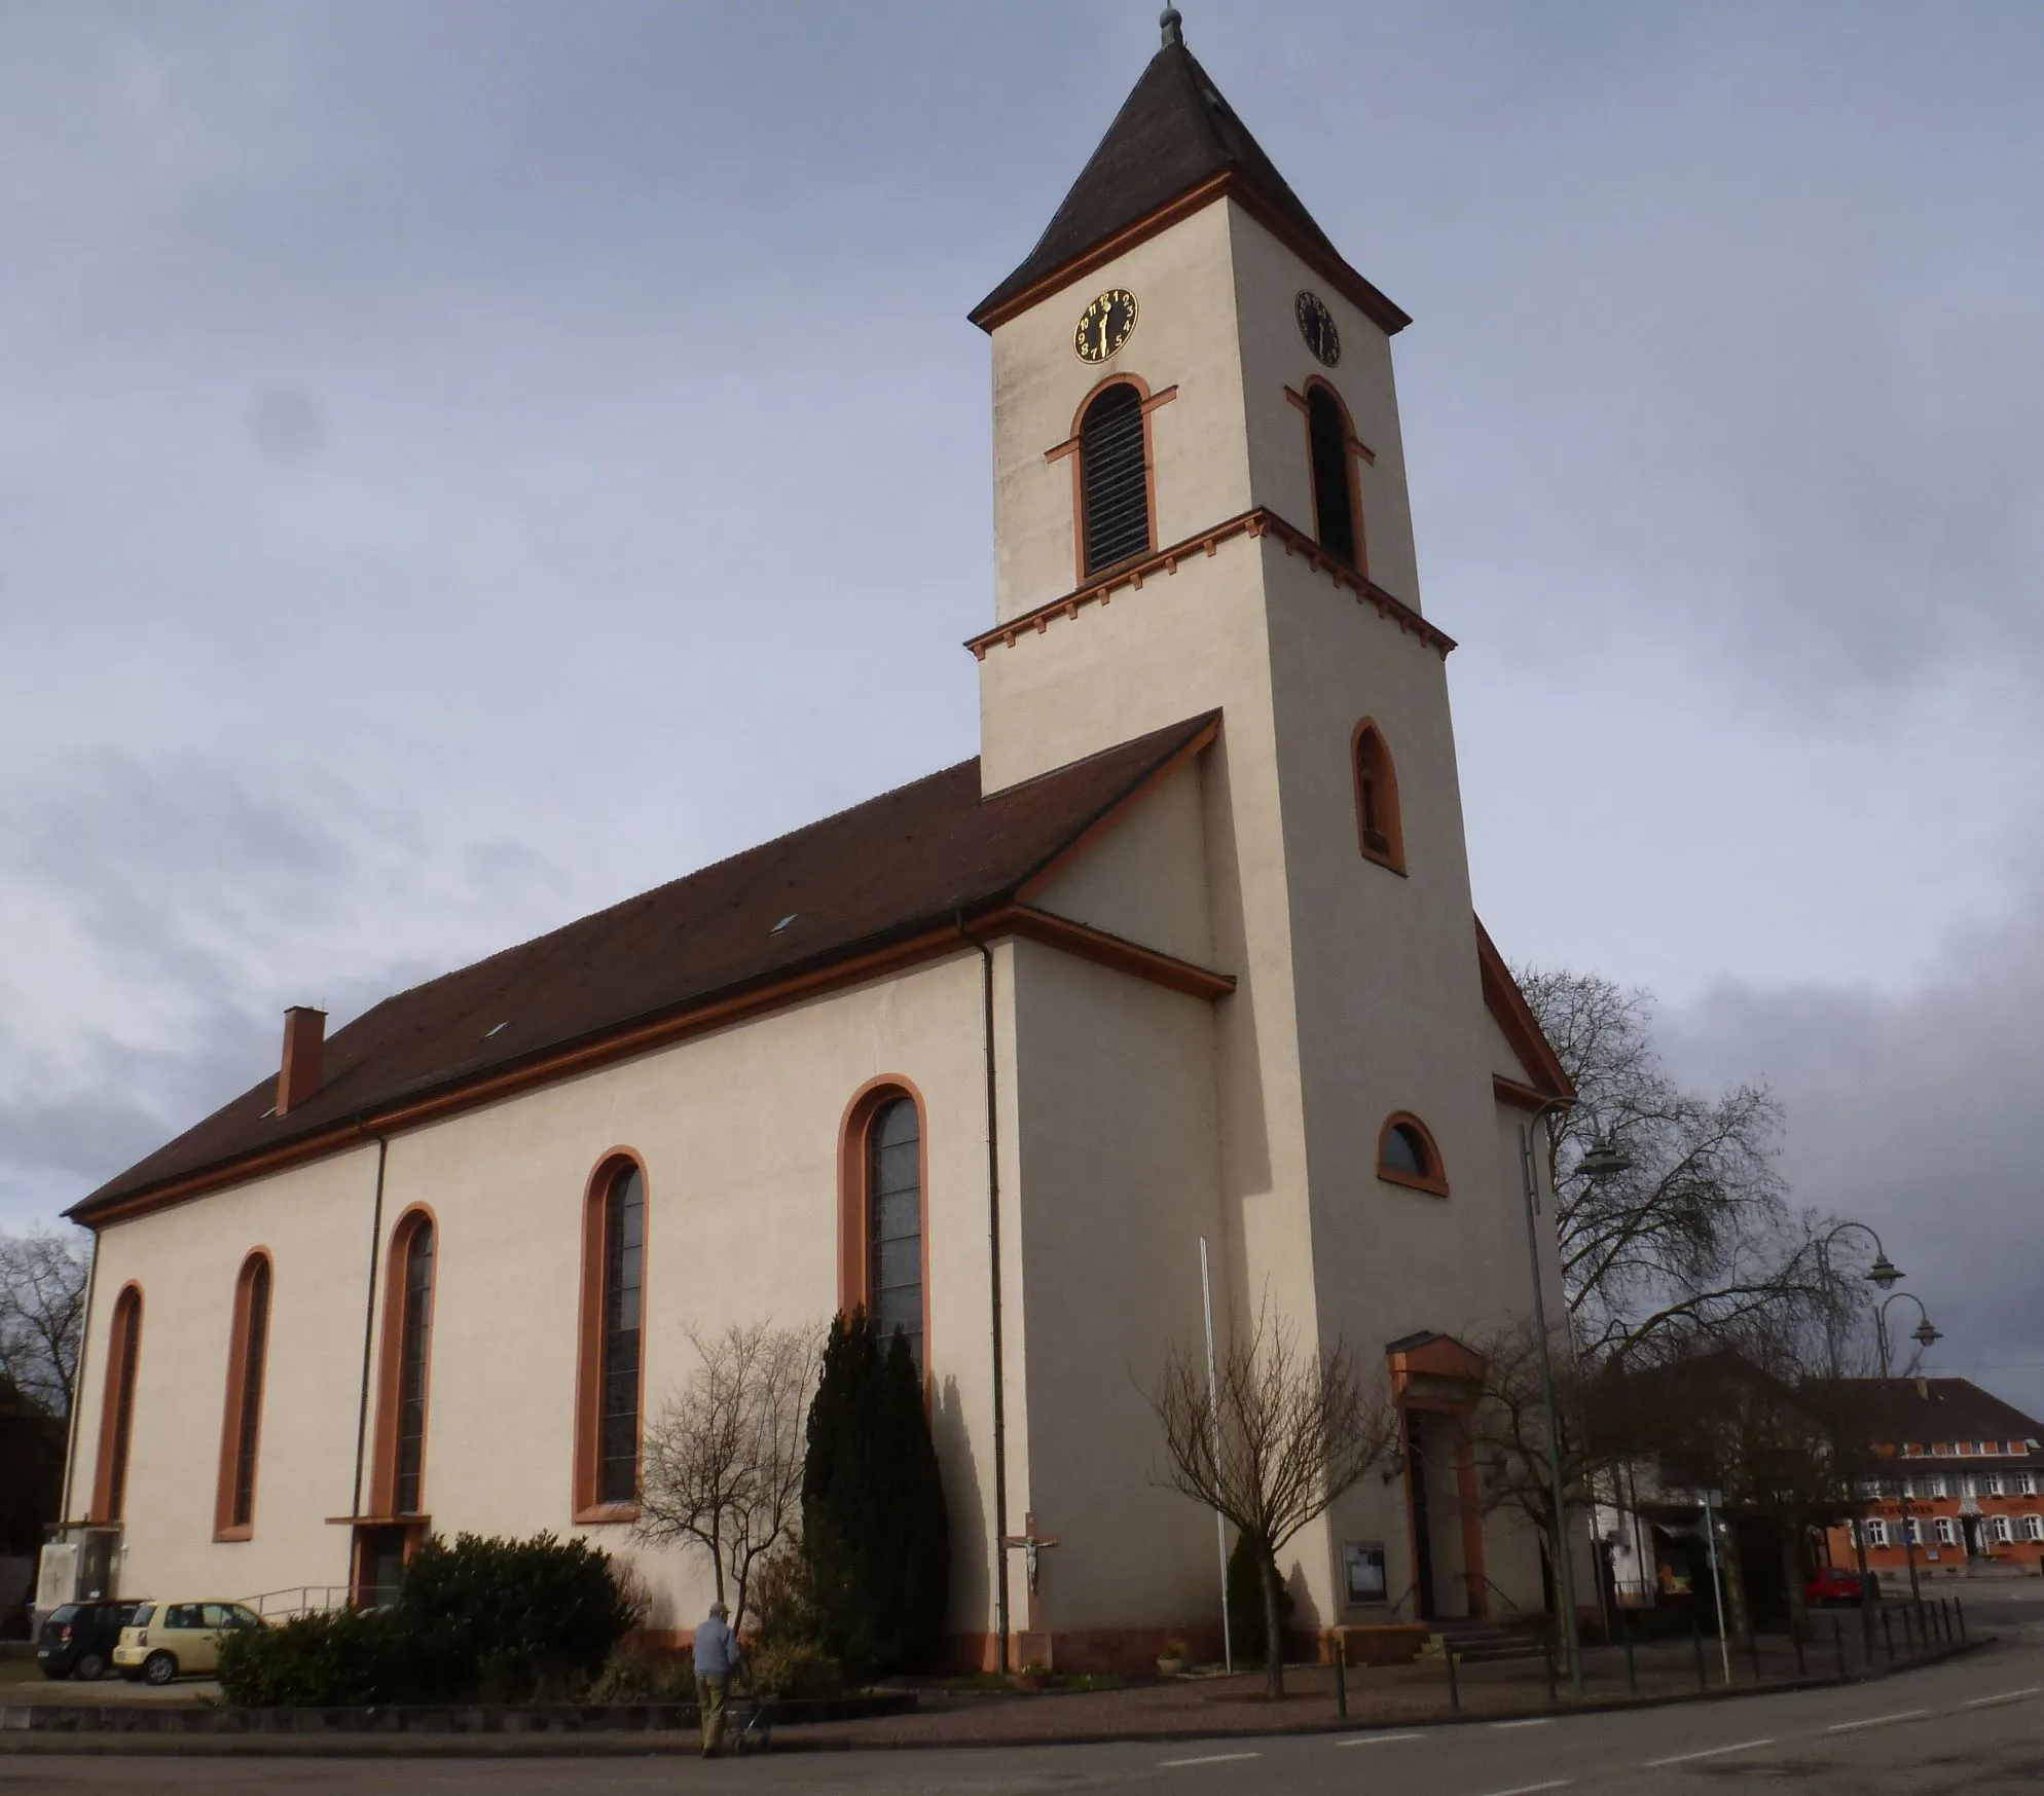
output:
[{"label": "shaded cream front wall between church corner and tower, below cornice", "polygon": [[1216,1620],[1212,1514],[1153,1481],[1147,1396],[1202,1351],[1200,1236],[1224,1250],[1212,1005],[1024,942],[1016,1056],[1042,1622]]}]

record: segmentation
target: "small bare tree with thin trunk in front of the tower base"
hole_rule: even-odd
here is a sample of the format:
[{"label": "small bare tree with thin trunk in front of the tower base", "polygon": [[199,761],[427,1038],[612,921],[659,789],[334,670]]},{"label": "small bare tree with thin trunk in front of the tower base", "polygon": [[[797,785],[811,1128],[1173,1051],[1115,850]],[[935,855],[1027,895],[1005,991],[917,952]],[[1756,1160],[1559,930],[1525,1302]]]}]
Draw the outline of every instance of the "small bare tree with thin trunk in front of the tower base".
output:
[{"label": "small bare tree with thin trunk in front of the tower base", "polygon": [[1400,1438],[1382,1367],[1337,1340],[1320,1355],[1298,1346],[1267,1306],[1255,1330],[1216,1365],[1218,1410],[1204,1355],[1173,1349],[1151,1408],[1163,1428],[1161,1483],[1235,1524],[1263,1584],[1271,1696],[1284,1696],[1284,1622],[1278,1551],[1320,1516]]}]

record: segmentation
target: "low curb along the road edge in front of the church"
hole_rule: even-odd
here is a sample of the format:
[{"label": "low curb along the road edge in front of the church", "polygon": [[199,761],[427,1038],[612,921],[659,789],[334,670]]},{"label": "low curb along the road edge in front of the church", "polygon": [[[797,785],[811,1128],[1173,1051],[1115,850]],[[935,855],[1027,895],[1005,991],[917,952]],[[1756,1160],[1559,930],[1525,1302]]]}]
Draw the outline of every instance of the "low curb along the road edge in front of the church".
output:
[{"label": "low curb along the road edge in front of the church", "polygon": [[[1907,1671],[1923,1671],[1950,1659],[1962,1659],[1997,1645],[1999,1635],[1985,1635],[1977,1641],[1958,1641],[1923,1653],[1915,1659],[1897,1659],[1893,1667],[1880,1667],[1872,1675],[1846,1677],[1795,1677],[1784,1684],[1733,1686],[1731,1690],[1686,1690],[1678,1696],[1619,1696],[1600,1702],[1568,1704],[1562,1708],[1508,1708],[1486,1712],[1414,1714],[1386,1720],[1312,1720],[1296,1727],[1265,1729],[1128,1729],[1120,1733],[1091,1735],[981,1735],[977,1739],[801,1739],[777,1731],[775,1755],[787,1753],[928,1753],[928,1751],[1016,1751],[1020,1747],[1110,1747],[1110,1745],[1183,1745],[1196,1741],[1253,1741],[1253,1739],[1310,1739],[1318,1735],[1367,1735],[1384,1729],[1423,1727],[1470,1727],[1494,1720],[1517,1720],[1521,1716],[1572,1716],[1611,1714],[1635,1708],[1676,1708],[1703,1702],[1739,1702],[1750,1696],[1791,1696],[1805,1690],[1840,1690],[1858,1684],[1883,1684]],[[807,1722],[809,1727],[830,1727],[830,1722]],[[102,1755],[102,1757],[315,1757],[315,1759],[619,1759],[619,1757],[675,1757],[693,1755],[701,1749],[695,1733],[460,1733],[460,1735],[401,1735],[401,1733],[335,1733],[335,1735],[280,1735],[280,1733],[78,1733],[78,1731],[0,1731],[0,1759],[4,1757],[59,1757],[59,1755]]]}]

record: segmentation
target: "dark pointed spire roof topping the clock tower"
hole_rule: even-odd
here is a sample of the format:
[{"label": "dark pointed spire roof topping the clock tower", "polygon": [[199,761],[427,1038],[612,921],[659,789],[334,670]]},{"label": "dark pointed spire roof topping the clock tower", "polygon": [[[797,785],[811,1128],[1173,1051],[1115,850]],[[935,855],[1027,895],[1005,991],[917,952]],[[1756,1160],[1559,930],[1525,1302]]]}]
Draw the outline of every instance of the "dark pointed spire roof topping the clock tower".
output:
[{"label": "dark pointed spire roof topping the clock tower", "polygon": [[1222,196],[1237,198],[1386,331],[1412,323],[1359,276],[1165,16],[1151,57],[1100,147],[1022,266],[971,313],[991,331],[1044,292]]}]

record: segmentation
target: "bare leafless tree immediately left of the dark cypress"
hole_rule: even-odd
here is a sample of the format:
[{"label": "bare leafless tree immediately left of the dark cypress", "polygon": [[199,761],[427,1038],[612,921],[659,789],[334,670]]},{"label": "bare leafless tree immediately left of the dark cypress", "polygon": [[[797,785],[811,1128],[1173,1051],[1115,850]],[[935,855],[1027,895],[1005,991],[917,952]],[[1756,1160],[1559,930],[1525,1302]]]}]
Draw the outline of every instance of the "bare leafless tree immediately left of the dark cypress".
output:
[{"label": "bare leafless tree immediately left of the dark cypress", "polygon": [[638,1532],[701,1547],[740,1628],[754,1569],[801,1528],[820,1336],[752,1322],[689,1340],[701,1363],[646,1432]]}]

